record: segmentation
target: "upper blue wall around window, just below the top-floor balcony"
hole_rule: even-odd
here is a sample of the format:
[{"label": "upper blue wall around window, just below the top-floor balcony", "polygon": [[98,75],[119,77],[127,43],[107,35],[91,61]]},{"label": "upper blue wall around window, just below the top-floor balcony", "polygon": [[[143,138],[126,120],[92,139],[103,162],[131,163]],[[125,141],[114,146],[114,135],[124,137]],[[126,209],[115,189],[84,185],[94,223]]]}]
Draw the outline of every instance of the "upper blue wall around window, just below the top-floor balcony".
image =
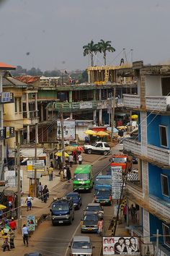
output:
[{"label": "upper blue wall around window, just below the top-floor balcony", "polygon": [[164,148],[161,147],[160,143],[160,135],[159,135],[159,125],[165,125],[168,127],[168,146],[170,148],[170,116],[161,116],[158,115],[156,116],[155,114],[149,115],[147,114],[147,135],[148,135],[148,144],[157,146],[159,148]]}]

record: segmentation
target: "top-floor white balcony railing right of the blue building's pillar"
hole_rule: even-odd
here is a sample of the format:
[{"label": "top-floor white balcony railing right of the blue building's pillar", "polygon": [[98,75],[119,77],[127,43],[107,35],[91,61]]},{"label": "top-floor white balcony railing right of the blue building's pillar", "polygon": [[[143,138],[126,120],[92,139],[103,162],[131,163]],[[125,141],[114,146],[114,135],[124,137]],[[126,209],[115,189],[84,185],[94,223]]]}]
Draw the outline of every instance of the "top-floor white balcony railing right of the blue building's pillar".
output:
[{"label": "top-floor white balcony railing right of the blue building's pillar", "polygon": [[146,96],[146,109],[151,111],[170,111],[170,96]]}]

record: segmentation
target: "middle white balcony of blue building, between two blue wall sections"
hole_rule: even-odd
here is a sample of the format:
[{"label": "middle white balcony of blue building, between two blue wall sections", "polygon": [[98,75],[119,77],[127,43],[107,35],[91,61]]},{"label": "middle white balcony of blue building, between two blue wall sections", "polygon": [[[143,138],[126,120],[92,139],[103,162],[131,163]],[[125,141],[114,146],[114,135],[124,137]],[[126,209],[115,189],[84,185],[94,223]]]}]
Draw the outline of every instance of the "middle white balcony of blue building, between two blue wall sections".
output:
[{"label": "middle white balcony of blue building, between two blue wall sections", "polygon": [[141,142],[132,139],[123,140],[123,148],[143,160],[161,166],[161,168],[170,166],[170,150],[148,145],[147,150],[142,151]]}]

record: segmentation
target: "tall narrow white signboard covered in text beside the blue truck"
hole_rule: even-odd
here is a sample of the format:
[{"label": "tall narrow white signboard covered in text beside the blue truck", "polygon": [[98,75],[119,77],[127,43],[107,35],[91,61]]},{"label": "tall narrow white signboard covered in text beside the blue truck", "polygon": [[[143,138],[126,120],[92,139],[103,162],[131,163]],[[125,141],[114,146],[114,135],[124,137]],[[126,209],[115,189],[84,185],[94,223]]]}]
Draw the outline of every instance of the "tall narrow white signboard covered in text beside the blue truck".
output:
[{"label": "tall narrow white signboard covered in text beside the blue truck", "polygon": [[112,166],[112,199],[120,199],[122,187],[122,166]]}]

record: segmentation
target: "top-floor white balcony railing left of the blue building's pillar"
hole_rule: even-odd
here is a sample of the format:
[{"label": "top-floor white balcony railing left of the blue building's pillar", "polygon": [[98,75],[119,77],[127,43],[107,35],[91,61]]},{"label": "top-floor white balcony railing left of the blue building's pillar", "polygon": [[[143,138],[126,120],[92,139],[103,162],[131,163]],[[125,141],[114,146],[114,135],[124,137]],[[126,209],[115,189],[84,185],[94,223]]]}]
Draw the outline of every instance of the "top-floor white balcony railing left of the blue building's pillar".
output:
[{"label": "top-floor white balcony railing left of the blue building's pillar", "polygon": [[140,108],[140,95],[123,94],[123,103],[126,108]]}]

